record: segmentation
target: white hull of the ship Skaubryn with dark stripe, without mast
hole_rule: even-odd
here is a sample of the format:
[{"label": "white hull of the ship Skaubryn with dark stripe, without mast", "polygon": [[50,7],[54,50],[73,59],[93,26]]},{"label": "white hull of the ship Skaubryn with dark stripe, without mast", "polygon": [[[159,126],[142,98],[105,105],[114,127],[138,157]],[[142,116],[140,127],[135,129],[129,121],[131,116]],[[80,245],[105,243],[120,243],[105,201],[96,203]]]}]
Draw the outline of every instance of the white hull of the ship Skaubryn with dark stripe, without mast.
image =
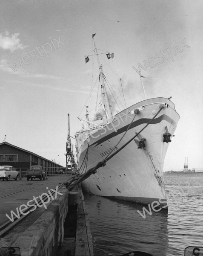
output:
[{"label": "white hull of the ship Skaubryn with dark stripe, without mast", "polygon": [[[163,142],[163,134],[167,127],[169,133],[173,135],[179,120],[174,104],[169,99],[153,98],[139,102],[117,113],[106,127],[77,133],[76,139],[78,167],[82,166],[80,173],[84,173],[112,151],[132,122],[134,109],[140,109],[140,113],[136,115],[117,148],[144,128],[160,110],[160,104],[164,104],[166,109],[160,111],[152,123],[112,157],[106,166],[99,168],[97,173],[82,182],[86,192],[141,204],[151,204],[160,200],[160,207],[166,206],[163,163],[169,143]],[[146,147],[138,149],[141,137],[146,139]],[[88,157],[86,157],[87,151]]]}]

